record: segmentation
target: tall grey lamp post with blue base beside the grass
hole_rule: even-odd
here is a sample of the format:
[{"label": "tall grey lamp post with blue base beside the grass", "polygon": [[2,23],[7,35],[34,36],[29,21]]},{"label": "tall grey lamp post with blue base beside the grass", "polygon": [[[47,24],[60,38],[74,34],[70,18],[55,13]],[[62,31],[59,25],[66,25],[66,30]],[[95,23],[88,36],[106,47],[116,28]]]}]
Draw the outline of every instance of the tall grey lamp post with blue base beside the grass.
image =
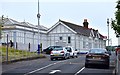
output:
[{"label": "tall grey lamp post with blue base beside the grass", "polygon": [[39,13],[39,0],[38,0],[38,54],[40,54],[40,13]]}]

